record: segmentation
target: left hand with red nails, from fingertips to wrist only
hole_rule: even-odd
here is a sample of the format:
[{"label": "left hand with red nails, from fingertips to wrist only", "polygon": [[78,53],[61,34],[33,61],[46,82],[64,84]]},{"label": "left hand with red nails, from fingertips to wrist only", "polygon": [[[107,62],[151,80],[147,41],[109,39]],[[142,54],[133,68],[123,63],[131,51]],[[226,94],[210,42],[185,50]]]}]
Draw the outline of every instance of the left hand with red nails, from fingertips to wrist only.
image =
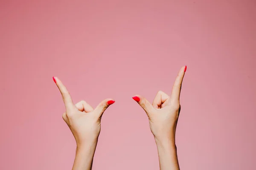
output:
[{"label": "left hand with red nails, from fingertips to wrist only", "polygon": [[100,133],[100,122],[104,111],[115,101],[113,99],[103,100],[96,109],[93,109],[87,102],[80,101],[73,104],[67,88],[57,77],[52,77],[58,86],[64,101],[66,112],[62,117],[72,131],[77,146],[97,141]]}]

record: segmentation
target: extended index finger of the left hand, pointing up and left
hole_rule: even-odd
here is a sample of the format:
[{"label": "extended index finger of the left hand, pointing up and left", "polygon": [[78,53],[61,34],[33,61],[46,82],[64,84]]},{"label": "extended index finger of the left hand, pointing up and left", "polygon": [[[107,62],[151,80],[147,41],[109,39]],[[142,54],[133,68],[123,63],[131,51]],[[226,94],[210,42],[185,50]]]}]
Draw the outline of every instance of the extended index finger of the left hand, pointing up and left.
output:
[{"label": "extended index finger of the left hand, pointing up and left", "polygon": [[58,86],[58,89],[61,92],[62,99],[66,109],[72,109],[74,107],[74,104],[70,96],[70,93],[67,91],[67,88],[62,84],[61,80],[58,79],[57,77],[52,77],[52,79],[56,83],[56,85]]}]

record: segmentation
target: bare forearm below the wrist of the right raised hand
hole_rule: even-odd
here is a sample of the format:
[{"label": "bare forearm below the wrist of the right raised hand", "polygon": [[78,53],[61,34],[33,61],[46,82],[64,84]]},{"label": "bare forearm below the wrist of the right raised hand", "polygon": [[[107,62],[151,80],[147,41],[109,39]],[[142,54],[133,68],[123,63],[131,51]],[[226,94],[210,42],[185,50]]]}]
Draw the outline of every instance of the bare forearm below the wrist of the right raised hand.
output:
[{"label": "bare forearm below the wrist of the right raised hand", "polygon": [[160,170],[180,170],[175,137],[155,139],[159,157]]}]

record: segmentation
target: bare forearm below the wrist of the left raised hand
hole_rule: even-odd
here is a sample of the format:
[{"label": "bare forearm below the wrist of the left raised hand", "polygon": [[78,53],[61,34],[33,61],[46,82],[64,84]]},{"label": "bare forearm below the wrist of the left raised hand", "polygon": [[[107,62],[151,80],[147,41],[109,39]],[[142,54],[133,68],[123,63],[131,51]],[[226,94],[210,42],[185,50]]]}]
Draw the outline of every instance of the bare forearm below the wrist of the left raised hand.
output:
[{"label": "bare forearm below the wrist of the left raised hand", "polygon": [[76,158],[72,170],[91,170],[97,140],[76,147]]}]

